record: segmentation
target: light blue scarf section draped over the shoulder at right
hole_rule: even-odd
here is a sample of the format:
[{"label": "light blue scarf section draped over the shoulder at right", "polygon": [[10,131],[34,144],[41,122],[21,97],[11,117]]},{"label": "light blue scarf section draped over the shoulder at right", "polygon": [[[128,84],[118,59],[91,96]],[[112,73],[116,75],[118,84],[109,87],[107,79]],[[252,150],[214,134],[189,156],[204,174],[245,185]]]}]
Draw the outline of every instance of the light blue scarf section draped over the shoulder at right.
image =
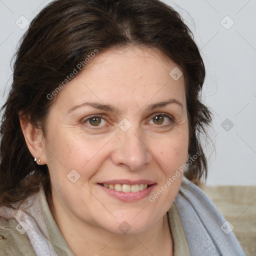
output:
[{"label": "light blue scarf section draped over the shoulder at right", "polygon": [[246,256],[216,206],[184,176],[174,202],[191,256]]}]

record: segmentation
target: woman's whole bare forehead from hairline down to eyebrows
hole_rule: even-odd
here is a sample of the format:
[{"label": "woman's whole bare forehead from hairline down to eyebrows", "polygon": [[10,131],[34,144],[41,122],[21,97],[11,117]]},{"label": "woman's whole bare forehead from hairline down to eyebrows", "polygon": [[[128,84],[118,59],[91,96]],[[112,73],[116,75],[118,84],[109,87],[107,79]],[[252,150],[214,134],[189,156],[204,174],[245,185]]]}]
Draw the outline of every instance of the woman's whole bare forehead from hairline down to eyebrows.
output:
[{"label": "woman's whole bare forehead from hairline down to eyebrows", "polygon": [[[97,53],[58,93],[67,106],[92,100],[139,107],[141,102],[184,100],[184,78],[173,79],[180,68],[155,48],[113,48]],[[181,70],[180,70],[181,72]],[[179,74],[178,74],[179,75]]]}]

